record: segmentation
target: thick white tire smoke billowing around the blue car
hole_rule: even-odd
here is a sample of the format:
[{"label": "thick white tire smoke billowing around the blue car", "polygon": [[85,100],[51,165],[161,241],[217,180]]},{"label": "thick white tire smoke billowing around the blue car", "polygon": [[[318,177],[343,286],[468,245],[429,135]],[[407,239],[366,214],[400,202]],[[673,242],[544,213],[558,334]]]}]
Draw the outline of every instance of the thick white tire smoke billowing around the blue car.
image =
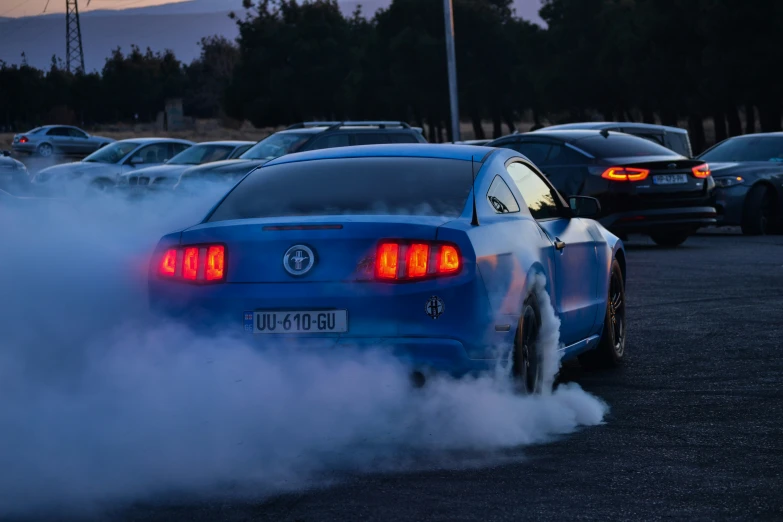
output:
[{"label": "thick white tire smoke billowing around the blue car", "polygon": [[[259,351],[152,317],[152,248],[215,199],[0,206],[0,518],[489,462],[602,422],[606,404],[576,384],[535,397],[505,375],[414,389],[382,351]],[[559,324],[538,292],[551,384]]]}]

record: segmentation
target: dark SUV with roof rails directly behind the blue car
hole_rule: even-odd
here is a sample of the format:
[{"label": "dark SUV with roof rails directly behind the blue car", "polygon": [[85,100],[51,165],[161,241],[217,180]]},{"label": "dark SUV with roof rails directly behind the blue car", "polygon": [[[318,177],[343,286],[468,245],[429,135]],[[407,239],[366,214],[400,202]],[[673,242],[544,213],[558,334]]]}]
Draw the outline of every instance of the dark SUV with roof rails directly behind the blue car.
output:
[{"label": "dark SUV with roof rails directly behind the blue car", "polygon": [[401,121],[312,121],[291,125],[256,143],[234,160],[193,167],[179,178],[175,190],[207,182],[235,182],[267,161],[306,150],[375,145],[380,143],[426,143],[421,129]]}]

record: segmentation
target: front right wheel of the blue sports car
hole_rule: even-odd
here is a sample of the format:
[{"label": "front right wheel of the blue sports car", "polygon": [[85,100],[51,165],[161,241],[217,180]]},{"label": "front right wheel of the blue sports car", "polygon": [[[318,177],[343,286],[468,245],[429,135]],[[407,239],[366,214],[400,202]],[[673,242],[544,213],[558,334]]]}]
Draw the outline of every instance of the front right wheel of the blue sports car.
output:
[{"label": "front right wheel of the blue sports car", "polygon": [[594,350],[581,354],[579,362],[587,369],[616,368],[625,358],[625,341],[625,284],[620,263],[615,259],[609,275],[609,294],[601,340]]}]

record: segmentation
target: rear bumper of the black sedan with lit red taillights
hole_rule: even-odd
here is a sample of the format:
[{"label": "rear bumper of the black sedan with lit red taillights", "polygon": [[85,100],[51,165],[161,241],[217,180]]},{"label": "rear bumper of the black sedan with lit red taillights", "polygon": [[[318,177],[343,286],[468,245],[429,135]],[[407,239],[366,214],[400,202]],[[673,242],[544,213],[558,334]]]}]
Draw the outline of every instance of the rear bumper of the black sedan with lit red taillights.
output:
[{"label": "rear bumper of the black sedan with lit red taillights", "polygon": [[657,230],[696,230],[715,225],[718,214],[715,207],[683,207],[633,210],[610,214],[599,220],[613,232],[649,233]]}]

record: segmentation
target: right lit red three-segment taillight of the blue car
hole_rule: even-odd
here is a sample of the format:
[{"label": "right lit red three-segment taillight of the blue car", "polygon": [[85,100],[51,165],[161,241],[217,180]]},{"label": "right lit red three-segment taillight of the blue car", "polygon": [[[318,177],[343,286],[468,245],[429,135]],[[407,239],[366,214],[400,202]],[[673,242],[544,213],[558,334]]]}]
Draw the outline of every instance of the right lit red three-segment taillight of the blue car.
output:
[{"label": "right lit red three-segment taillight of the blue car", "polygon": [[447,243],[390,240],[381,242],[375,253],[375,277],[384,281],[452,275],[460,268],[459,250]]}]

